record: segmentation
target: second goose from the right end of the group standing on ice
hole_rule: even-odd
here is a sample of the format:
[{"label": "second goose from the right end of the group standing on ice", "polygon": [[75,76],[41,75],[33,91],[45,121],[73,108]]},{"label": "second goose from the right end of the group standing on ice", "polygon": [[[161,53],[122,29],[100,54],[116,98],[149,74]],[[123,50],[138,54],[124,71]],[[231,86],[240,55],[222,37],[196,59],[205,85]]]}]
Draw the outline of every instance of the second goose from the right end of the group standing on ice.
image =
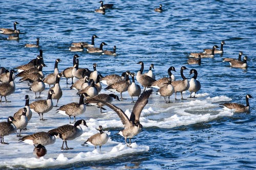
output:
[{"label": "second goose from the right end of the group standing on ice", "polygon": [[177,92],[181,93],[181,100],[184,100],[183,96],[182,96],[182,92],[186,91],[189,88],[189,82],[188,82],[187,78],[185,78],[185,76],[183,75],[184,69],[188,69],[188,68],[186,68],[185,66],[182,66],[180,69],[180,75],[183,80],[177,80],[177,81],[172,82],[172,85],[173,85],[174,91],[175,91],[175,100],[177,100],[177,98],[176,98]]}]

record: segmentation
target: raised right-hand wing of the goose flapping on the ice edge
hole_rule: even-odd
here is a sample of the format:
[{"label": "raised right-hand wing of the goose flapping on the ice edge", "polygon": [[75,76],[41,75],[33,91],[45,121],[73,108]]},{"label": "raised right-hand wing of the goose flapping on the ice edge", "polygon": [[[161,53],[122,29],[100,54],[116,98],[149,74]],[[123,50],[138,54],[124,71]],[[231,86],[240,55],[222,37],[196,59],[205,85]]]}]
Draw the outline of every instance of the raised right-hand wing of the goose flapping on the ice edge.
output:
[{"label": "raised right-hand wing of the goose flapping on the ice edge", "polygon": [[140,113],[144,108],[144,106],[147,104],[148,102],[147,99],[150,97],[151,93],[152,93],[152,90],[147,90],[140,95],[139,99],[137,100],[137,102],[133,107],[133,111],[130,116],[130,121],[134,122],[135,120],[137,120],[137,122],[139,122]]}]

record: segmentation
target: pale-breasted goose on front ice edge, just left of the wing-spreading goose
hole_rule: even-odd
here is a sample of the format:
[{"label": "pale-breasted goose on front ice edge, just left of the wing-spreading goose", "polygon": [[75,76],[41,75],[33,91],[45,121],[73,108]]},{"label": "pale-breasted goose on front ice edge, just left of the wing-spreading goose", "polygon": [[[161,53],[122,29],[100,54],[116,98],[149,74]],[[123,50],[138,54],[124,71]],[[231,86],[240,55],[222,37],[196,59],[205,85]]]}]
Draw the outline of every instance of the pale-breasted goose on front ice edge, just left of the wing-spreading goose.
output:
[{"label": "pale-breasted goose on front ice edge, just left of the wing-spreading goose", "polygon": [[102,126],[99,126],[99,129],[97,129],[99,133],[88,138],[83,144],[89,142],[94,145],[95,149],[97,149],[96,146],[99,146],[99,150],[101,151],[101,146],[109,140],[109,135],[104,133],[102,129]]}]

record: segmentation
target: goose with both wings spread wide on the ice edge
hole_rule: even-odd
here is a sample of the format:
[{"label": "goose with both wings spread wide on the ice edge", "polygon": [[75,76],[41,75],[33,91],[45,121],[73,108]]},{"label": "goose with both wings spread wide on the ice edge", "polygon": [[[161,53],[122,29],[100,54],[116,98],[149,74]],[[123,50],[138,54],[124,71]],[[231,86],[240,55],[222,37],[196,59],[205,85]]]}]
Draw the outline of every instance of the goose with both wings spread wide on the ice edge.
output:
[{"label": "goose with both wings spread wide on the ice edge", "polygon": [[[115,105],[98,100],[98,102],[101,102],[106,106],[109,106],[111,109],[113,109],[120,117],[121,122],[124,125],[124,129],[120,131],[119,134],[124,137],[125,144],[128,147],[131,147],[130,146],[131,138],[133,138],[135,135],[139,134],[142,131],[142,125],[140,124],[140,120],[139,120],[140,113],[144,108],[144,106],[147,104],[148,97],[150,96],[151,93],[152,93],[152,90],[147,90],[140,95],[139,99],[137,100],[137,102],[133,107],[133,111],[131,113],[130,119],[120,108],[116,107]],[[130,139],[130,145],[127,144],[127,141],[126,141],[127,138]]]}]

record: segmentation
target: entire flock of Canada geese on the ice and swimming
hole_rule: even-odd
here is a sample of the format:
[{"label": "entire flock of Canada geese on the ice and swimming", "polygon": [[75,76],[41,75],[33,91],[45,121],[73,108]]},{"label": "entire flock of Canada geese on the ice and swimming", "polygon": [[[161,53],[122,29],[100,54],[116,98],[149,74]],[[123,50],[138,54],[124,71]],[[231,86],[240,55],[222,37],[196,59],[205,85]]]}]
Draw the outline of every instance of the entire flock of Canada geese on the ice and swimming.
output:
[{"label": "entire flock of Canada geese on the ice and swimming", "polygon": [[[104,14],[105,9],[113,8],[113,4],[103,4],[100,1],[100,8],[96,9],[95,12]],[[156,12],[162,12],[162,5],[160,8],[155,9]],[[14,29],[0,29],[0,33],[7,34],[9,37],[8,40],[17,40],[19,38],[20,31],[16,29],[18,22],[14,22]],[[72,52],[80,52],[84,49],[88,53],[99,53],[105,55],[116,55],[116,46],[114,45],[113,51],[103,50],[103,46],[106,45],[105,42],[101,42],[99,47],[95,47],[94,40],[98,38],[96,35],[92,35],[91,43],[87,42],[74,42],[72,46],[69,47],[69,50]],[[190,53],[190,57],[187,63],[188,64],[201,64],[201,58],[212,58],[215,55],[223,54],[223,45],[224,41],[221,42],[221,48],[217,45],[214,45],[211,49],[204,49],[200,53]],[[36,39],[36,44],[26,44],[25,47],[39,47],[39,38]],[[242,52],[239,53],[238,59],[225,58],[223,61],[229,62],[231,67],[247,67],[247,56],[244,57],[241,61]],[[34,155],[36,157],[44,156],[47,153],[45,148],[46,145],[53,144],[56,137],[62,139],[61,150],[70,150],[67,145],[68,140],[73,140],[79,137],[83,131],[81,126],[86,126],[86,120],[79,119],[76,120],[76,116],[83,114],[86,111],[87,105],[95,105],[100,108],[100,112],[105,110],[103,106],[108,106],[113,109],[117,115],[120,117],[124,129],[119,132],[121,136],[124,137],[125,143],[127,146],[131,147],[131,138],[136,136],[142,131],[142,125],[140,124],[140,113],[144,106],[148,102],[148,98],[153,93],[153,88],[157,88],[158,94],[164,97],[165,103],[170,103],[170,96],[175,93],[175,100],[177,100],[177,92],[181,94],[181,100],[183,100],[182,93],[186,90],[190,92],[190,98],[196,98],[196,93],[201,89],[201,84],[197,80],[198,71],[196,69],[190,69],[189,75],[193,77],[188,80],[183,72],[188,70],[187,67],[181,66],[180,75],[181,80],[176,80],[175,76],[172,74],[172,71],[176,71],[175,67],[170,66],[167,70],[168,77],[156,80],[155,74],[153,72],[154,64],[150,65],[150,68],[147,72],[144,71],[144,63],[139,61],[137,64],[140,65],[140,69],[135,72],[130,70],[124,71],[121,75],[110,74],[102,76],[100,72],[96,69],[97,64],[93,64],[93,70],[89,68],[79,67],[79,55],[75,54],[73,56],[73,65],[59,71],[58,63],[61,62],[61,59],[55,60],[54,70],[51,74],[45,76],[42,68],[46,66],[44,63],[44,58],[42,50],[39,50],[39,55],[32,59],[25,65],[17,66],[11,70],[6,69],[5,67],[0,68],[0,95],[1,102],[11,102],[7,100],[7,96],[15,92],[15,78],[20,78],[18,83],[26,82],[29,84],[28,89],[35,93],[36,101],[30,103],[29,95],[25,96],[25,106],[20,108],[13,116],[9,116],[7,122],[0,123],[0,138],[2,144],[9,144],[4,141],[4,136],[7,136],[12,133],[16,133],[18,141],[23,141],[28,144],[34,145]],[[18,74],[15,75],[15,72]],[[67,103],[66,105],[58,107],[58,101],[62,97],[61,86],[59,85],[61,77],[66,78],[66,83],[71,79],[70,89],[76,90],[76,95],[79,95],[79,102]],[[132,81],[130,80],[132,78]],[[75,82],[74,82],[75,78]],[[139,84],[136,83],[135,78]],[[40,99],[41,92],[46,89],[46,84],[49,85],[48,97],[43,100]],[[120,93],[120,96],[110,93],[102,93],[102,84],[105,84],[106,87],[103,89],[116,91]],[[141,86],[144,88],[143,91]],[[146,90],[150,88],[149,90]],[[102,90],[102,91],[103,91]],[[132,98],[132,102],[135,103],[130,118],[117,106],[111,104],[113,100],[123,100],[122,93],[128,92]],[[39,93],[37,95],[36,93]],[[194,93],[194,96],[192,95]],[[5,98],[5,101],[2,101],[2,98]],[[135,102],[134,97],[138,98]],[[234,112],[245,112],[249,110],[248,99],[252,98],[250,94],[246,95],[246,106],[237,103],[225,103],[221,107],[234,109]],[[56,105],[53,105],[53,100],[56,100]],[[21,136],[22,130],[26,130],[29,120],[32,117],[32,112],[35,112],[39,115],[40,120],[44,119],[44,114],[53,109],[53,107],[58,107],[56,109],[57,113],[62,115],[69,116],[69,123],[60,127],[56,127],[48,132],[37,132],[31,135]],[[74,125],[72,125],[71,117],[74,117]],[[18,134],[19,130],[19,134]],[[109,135],[103,132],[102,126],[99,126],[97,129],[99,133],[88,138],[84,143],[92,143],[95,146],[101,146],[105,144]],[[129,138],[129,143],[127,139]],[[64,148],[64,143],[66,148]]]}]

